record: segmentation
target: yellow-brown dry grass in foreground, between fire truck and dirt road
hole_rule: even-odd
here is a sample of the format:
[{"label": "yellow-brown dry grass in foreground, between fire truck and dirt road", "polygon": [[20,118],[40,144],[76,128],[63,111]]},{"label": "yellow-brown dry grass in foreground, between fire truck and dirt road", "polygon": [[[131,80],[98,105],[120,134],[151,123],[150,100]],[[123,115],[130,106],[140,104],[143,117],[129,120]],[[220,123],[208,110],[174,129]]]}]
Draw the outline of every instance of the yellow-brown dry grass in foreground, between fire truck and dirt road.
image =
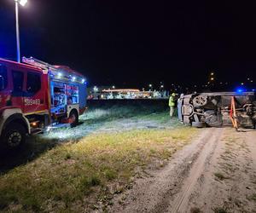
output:
[{"label": "yellow-brown dry grass in foreground, between fire truck and dirt road", "polygon": [[149,164],[161,166],[198,132],[131,130],[88,135],[53,147],[0,176],[0,210],[82,212],[111,204]]}]

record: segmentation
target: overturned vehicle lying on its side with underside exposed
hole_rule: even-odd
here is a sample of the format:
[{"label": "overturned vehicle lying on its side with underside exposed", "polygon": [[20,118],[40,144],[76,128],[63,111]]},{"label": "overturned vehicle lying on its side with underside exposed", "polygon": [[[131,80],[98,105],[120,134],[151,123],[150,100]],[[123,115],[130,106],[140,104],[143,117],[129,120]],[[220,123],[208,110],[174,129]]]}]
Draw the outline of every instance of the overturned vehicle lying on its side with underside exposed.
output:
[{"label": "overturned vehicle lying on its side with underside exposed", "polygon": [[256,101],[253,92],[195,93],[177,101],[178,118],[195,127],[232,125],[230,106],[236,102],[236,120],[241,127],[255,128]]}]

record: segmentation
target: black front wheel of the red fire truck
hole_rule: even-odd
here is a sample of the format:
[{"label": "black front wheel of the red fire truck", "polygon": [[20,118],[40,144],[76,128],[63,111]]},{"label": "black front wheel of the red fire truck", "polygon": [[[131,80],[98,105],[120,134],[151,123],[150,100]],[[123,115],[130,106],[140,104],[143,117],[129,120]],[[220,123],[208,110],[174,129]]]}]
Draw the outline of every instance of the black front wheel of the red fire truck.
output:
[{"label": "black front wheel of the red fire truck", "polygon": [[3,130],[3,148],[16,149],[25,142],[26,130],[21,124],[9,124]]}]

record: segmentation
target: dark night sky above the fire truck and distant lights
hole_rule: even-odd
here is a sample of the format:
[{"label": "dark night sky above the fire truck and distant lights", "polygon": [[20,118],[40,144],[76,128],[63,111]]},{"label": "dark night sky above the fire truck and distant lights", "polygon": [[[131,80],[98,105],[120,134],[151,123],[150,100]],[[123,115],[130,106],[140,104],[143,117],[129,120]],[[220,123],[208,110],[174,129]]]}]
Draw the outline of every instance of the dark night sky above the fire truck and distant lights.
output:
[{"label": "dark night sky above the fire truck and distant lights", "polygon": [[[256,81],[256,4],[28,0],[21,55],[84,73],[90,85],[168,88]],[[15,60],[15,3],[0,0],[0,57]]]}]

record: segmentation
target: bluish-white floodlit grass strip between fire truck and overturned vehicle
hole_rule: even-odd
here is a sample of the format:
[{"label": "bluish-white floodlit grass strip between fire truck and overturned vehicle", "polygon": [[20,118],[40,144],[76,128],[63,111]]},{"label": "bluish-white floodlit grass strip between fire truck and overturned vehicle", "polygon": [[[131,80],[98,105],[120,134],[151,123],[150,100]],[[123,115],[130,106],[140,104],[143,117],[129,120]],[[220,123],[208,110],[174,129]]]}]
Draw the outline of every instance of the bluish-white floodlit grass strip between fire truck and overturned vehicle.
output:
[{"label": "bluish-white floodlit grass strip between fire truck and overturned vehicle", "polygon": [[75,129],[60,129],[43,135],[42,140],[68,141],[83,138],[96,132],[121,132],[127,130],[144,129],[174,129],[183,124],[177,119],[170,119],[169,112],[158,106],[108,106],[102,108],[91,107],[80,116],[81,124]]}]

